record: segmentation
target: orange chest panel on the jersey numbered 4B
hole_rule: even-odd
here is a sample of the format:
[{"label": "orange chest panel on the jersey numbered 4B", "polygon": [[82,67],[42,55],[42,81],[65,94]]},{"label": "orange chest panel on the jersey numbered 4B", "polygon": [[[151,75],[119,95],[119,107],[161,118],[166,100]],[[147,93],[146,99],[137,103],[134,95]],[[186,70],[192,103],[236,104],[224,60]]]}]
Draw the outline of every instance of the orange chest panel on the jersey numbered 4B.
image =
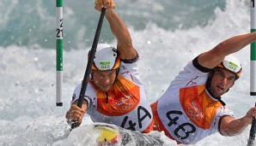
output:
[{"label": "orange chest panel on the jersey numbered 4B", "polygon": [[198,127],[210,128],[220,102],[211,99],[204,91],[205,85],[180,89],[180,104],[189,120]]}]

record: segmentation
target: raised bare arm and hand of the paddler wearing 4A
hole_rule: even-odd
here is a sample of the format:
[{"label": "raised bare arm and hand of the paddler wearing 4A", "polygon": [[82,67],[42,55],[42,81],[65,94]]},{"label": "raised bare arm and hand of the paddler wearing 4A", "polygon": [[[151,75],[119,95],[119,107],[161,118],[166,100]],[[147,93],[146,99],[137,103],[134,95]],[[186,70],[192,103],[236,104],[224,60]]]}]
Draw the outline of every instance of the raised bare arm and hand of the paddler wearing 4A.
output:
[{"label": "raised bare arm and hand of the paddler wearing 4A", "polygon": [[137,55],[137,51],[133,48],[131,35],[125,26],[125,23],[113,10],[115,7],[113,0],[100,0],[100,2],[95,4],[95,9],[101,10],[102,7],[107,9],[105,16],[109,22],[113,35],[118,40],[117,49],[119,50],[120,58],[123,60],[134,59]]}]

